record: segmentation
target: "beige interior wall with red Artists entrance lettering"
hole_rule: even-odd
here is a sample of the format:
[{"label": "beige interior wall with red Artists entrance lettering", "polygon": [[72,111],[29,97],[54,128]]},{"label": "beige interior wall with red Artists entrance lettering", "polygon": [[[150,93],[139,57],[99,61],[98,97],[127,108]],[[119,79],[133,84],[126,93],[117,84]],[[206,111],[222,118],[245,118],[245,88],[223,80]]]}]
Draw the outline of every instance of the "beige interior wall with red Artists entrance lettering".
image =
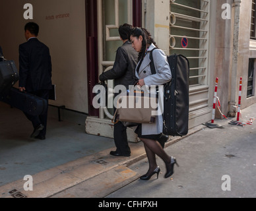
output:
[{"label": "beige interior wall with red Artists entrance lettering", "polygon": [[[25,3],[34,7],[34,19],[24,20]],[[4,5],[4,7],[2,7]],[[69,14],[65,18],[56,15]],[[55,16],[47,20],[46,16]],[[1,0],[0,45],[7,59],[15,59],[18,67],[18,45],[24,39],[24,24],[40,25],[38,39],[48,45],[53,64],[53,83],[57,85],[58,106],[88,113],[86,74],[86,34],[84,0]]]}]

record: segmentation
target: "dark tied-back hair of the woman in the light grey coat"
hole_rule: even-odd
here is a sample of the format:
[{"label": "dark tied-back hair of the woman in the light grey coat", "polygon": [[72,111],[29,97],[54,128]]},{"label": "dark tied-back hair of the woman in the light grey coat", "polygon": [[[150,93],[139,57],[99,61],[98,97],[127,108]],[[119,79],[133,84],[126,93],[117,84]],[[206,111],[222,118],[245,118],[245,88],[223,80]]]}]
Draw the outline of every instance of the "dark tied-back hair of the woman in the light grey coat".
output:
[{"label": "dark tied-back hair of the woman in the light grey coat", "polygon": [[139,36],[143,37],[143,46],[141,47],[141,52],[139,53],[139,60],[144,59],[146,48],[148,46],[150,46],[151,44],[156,45],[156,42],[154,42],[150,32],[148,32],[146,28],[139,28],[139,27],[133,28],[133,30],[131,31],[131,36],[137,37],[137,38],[139,38]]}]

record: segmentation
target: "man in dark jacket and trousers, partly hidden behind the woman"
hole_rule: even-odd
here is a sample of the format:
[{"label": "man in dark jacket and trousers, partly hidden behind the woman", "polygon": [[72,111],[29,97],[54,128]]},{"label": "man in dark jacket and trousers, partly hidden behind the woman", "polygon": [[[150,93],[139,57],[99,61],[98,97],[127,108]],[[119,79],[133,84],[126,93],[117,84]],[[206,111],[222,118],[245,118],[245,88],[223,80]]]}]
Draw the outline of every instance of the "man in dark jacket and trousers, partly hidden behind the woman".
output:
[{"label": "man in dark jacket and trousers, partly hidden behind the woman", "polygon": [[[133,26],[130,24],[119,26],[119,35],[123,45],[117,49],[113,69],[100,75],[100,81],[114,80],[115,86],[123,85],[127,90],[129,85],[133,85],[136,82],[135,68],[138,62],[138,53],[133,49],[129,41],[132,28]],[[117,149],[110,152],[112,156],[131,156],[126,129],[120,121],[114,125],[113,136]]]}]

